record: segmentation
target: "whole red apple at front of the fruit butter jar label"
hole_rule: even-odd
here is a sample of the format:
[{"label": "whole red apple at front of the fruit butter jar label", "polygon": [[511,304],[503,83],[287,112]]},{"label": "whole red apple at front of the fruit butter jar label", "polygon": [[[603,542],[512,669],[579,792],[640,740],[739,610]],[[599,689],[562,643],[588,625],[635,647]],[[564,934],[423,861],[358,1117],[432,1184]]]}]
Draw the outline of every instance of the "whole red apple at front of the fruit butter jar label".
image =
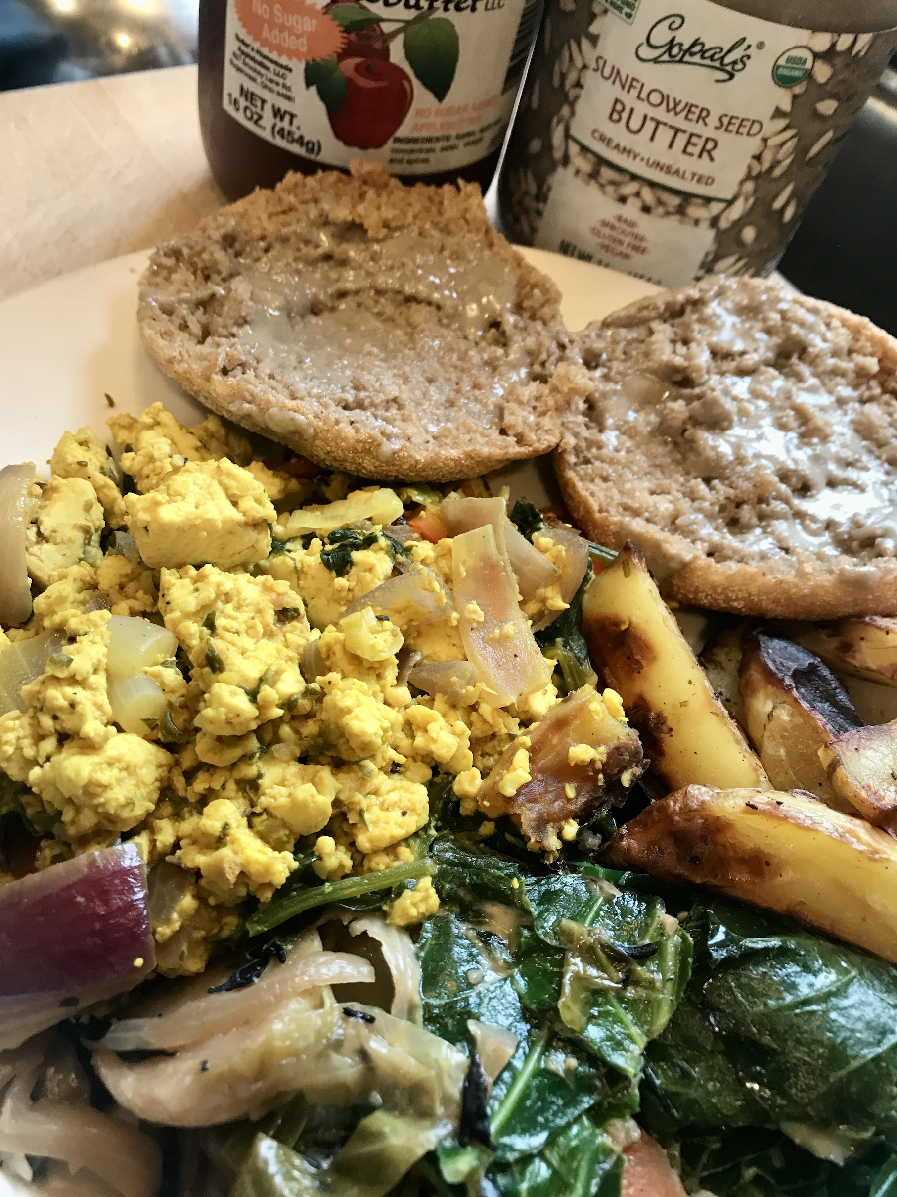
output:
[{"label": "whole red apple at front of the fruit butter jar label", "polygon": [[346,98],[336,110],[328,110],[330,127],[347,146],[379,150],[385,146],[414,99],[410,75],[384,59],[343,59]]}]

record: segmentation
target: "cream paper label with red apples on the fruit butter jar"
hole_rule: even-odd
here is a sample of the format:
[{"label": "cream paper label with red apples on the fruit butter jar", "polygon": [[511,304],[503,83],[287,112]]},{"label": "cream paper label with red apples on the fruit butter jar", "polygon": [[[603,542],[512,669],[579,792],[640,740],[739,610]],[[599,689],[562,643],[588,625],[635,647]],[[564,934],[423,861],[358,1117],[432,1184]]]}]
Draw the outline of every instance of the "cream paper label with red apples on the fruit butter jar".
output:
[{"label": "cream paper label with red apples on the fruit butter jar", "polygon": [[542,0],[227,0],[221,103],[257,136],[330,166],[395,174],[496,150]]}]

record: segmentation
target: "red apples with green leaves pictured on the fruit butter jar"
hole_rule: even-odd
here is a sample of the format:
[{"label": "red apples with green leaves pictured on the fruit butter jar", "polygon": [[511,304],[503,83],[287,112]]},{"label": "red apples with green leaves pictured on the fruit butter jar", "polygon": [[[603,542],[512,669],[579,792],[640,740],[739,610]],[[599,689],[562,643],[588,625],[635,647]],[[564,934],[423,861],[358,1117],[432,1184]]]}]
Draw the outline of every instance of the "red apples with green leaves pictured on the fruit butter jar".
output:
[{"label": "red apples with green leaves pictured on the fruit butter jar", "polygon": [[[411,75],[390,60],[390,43],[402,38],[408,66],[441,104],[458,66],[458,31],[433,8],[411,20],[371,12],[359,0],[336,0],[324,10],[343,32],[336,54],[305,65],[305,86],[316,87],[334,135],[356,150],[380,150],[402,126],[414,103]],[[396,29],[384,32],[384,25]]]}]

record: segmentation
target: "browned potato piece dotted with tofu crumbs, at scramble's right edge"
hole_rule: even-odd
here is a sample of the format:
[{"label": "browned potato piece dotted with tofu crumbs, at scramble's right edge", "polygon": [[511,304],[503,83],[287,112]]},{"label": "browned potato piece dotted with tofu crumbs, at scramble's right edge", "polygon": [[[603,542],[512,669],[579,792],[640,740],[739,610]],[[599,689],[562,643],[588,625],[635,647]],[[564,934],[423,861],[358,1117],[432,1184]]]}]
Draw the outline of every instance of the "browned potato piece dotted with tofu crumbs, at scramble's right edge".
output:
[{"label": "browned potato piece dotted with tofu crumbs, at scramble's right edge", "polygon": [[[513,797],[501,794],[498,783],[520,748],[519,739],[501,754],[477,795],[484,814],[490,819],[511,815],[532,847],[556,847],[553,840],[557,830],[568,819],[587,821],[598,809],[608,782],[622,776],[630,785],[645,767],[636,734],[609,715],[603,703],[596,709],[594,700],[596,692],[584,686],[526,730],[532,780]],[[578,743],[606,748],[604,761],[570,765],[568,753]],[[573,785],[573,796],[567,794],[568,784]]]}]

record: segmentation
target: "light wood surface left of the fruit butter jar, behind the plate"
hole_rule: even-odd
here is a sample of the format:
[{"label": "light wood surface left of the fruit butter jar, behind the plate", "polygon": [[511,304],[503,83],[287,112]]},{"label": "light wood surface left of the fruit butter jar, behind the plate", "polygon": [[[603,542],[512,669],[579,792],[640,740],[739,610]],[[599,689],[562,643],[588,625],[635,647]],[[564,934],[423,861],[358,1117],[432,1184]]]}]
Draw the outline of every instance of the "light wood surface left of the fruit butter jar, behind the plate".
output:
[{"label": "light wood surface left of the fruit butter jar, behind the plate", "polygon": [[196,67],[0,93],[0,298],[154,245],[225,202]]}]

